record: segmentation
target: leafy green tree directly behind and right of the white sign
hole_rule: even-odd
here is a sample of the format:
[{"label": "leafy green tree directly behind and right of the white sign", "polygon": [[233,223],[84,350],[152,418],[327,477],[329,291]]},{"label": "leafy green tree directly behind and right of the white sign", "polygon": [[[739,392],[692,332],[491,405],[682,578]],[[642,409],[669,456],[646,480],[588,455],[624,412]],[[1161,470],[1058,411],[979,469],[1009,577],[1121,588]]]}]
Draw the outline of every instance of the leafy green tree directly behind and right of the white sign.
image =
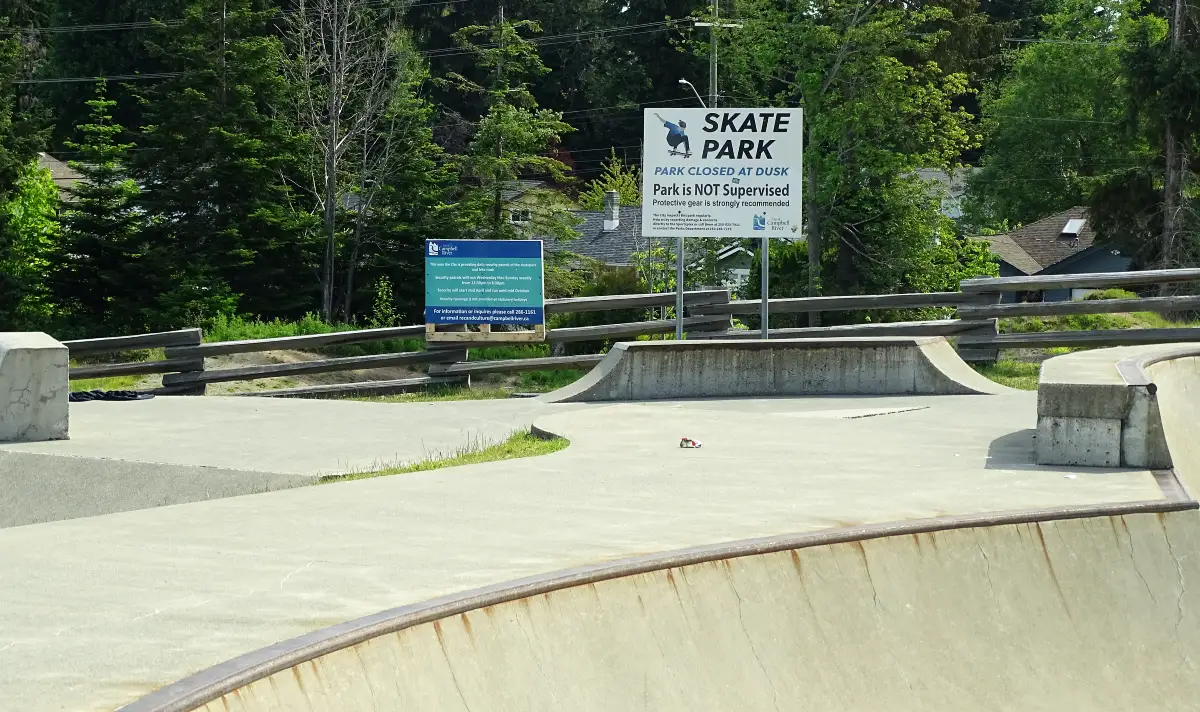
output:
[{"label": "leafy green tree directly behind and right of the white sign", "polygon": [[[739,103],[804,106],[808,241],[824,293],[902,291],[953,234],[916,176],[978,144],[956,107],[964,73],[932,56],[953,18],[943,7],[860,0],[748,0],[724,50]],[[700,48],[703,49],[703,48]]]}]

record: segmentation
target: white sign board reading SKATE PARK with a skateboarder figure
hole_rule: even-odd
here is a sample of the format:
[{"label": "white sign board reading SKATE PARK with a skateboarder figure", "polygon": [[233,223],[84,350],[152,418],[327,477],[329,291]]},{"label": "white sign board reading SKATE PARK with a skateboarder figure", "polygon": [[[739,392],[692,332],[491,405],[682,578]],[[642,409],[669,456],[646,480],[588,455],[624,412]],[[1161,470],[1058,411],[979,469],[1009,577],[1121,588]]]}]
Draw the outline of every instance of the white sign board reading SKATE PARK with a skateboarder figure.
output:
[{"label": "white sign board reading SKATE PARK with a skateboarder figure", "polygon": [[646,109],[642,234],[800,237],[803,109]]}]

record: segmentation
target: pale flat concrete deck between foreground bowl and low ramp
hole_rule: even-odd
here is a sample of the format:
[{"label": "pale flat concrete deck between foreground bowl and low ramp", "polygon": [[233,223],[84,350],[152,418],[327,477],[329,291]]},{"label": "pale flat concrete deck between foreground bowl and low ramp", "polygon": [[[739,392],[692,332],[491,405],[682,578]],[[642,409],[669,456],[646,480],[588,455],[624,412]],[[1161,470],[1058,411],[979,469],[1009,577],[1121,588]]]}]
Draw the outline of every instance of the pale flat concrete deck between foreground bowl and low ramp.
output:
[{"label": "pale flat concrete deck between foreground bowl and low ramp", "polygon": [[536,420],[571,438],[545,457],[2,529],[0,699],[112,710],[334,623],[625,556],[1164,499],[1148,472],[1034,466],[1033,418],[1026,393],[577,406]]}]

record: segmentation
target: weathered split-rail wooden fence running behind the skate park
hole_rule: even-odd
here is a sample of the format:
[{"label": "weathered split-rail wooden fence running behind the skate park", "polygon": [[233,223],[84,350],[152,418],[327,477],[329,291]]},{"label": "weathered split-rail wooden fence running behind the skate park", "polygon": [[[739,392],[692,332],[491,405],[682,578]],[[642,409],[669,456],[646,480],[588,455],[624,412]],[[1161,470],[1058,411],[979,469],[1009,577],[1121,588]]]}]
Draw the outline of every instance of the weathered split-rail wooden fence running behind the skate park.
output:
[{"label": "weathered split-rail wooden fence running behind the skate park", "polygon": [[[1193,281],[1200,281],[1200,269],[977,279],[964,281],[960,286],[960,292],[936,292],[928,294],[772,299],[770,312],[773,315],[919,307],[950,307],[956,311],[956,315],[954,318],[938,321],[876,322],[838,327],[770,329],[768,335],[775,339],[887,335],[947,336],[956,343],[959,353],[967,360],[995,360],[1002,348],[1194,342],[1200,341],[1200,328],[1181,327],[1030,334],[1001,334],[997,328],[998,319],[1006,317],[1134,311],[1165,313],[1200,309],[1200,297],[1152,297],[1145,299],[1004,304],[1002,298],[1006,293],[1114,286],[1130,287]],[[546,303],[546,312],[648,311],[654,307],[672,306],[674,299],[676,295],[673,293],[556,299]],[[756,330],[733,329],[731,322],[733,317],[740,315],[757,315],[761,306],[758,300],[731,301],[730,293],[725,289],[701,289],[685,292],[684,305],[686,313],[683,322],[689,339],[756,339],[761,335]],[[554,345],[572,342],[611,342],[636,339],[638,336],[670,334],[674,331],[674,328],[676,321],[673,318],[594,327],[570,327],[551,329],[547,333],[547,341],[552,347]],[[469,382],[470,376],[485,373],[588,369],[602,359],[602,354],[582,354],[468,361],[466,345],[428,345],[424,351],[328,358],[295,364],[256,365],[218,370],[206,370],[204,361],[205,358],[226,354],[259,353],[278,349],[313,349],[337,345],[390,340],[421,340],[424,336],[425,327],[421,324],[307,336],[204,343],[199,329],[184,329],[180,331],[142,334],[137,336],[68,341],[66,345],[71,349],[72,357],[163,348],[164,359],[162,360],[80,365],[71,369],[72,379],[162,373],[162,388],[155,390],[160,394],[203,394],[205,385],[209,383],[253,381],[358,369],[379,369],[400,365],[424,366],[426,369],[426,376],[421,377],[313,385],[253,394],[269,396],[384,395],[430,385],[464,383]]]}]

